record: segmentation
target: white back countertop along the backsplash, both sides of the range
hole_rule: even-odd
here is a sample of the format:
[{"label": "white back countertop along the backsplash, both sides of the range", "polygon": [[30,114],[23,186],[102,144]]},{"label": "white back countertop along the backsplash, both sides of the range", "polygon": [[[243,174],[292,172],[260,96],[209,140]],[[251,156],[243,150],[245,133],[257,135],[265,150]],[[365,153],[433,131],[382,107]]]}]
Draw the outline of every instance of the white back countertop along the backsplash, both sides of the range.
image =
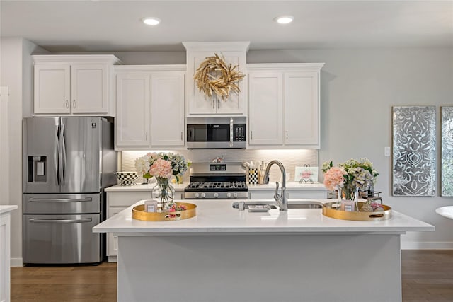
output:
[{"label": "white back countertop along the backsplash, both sides of the range", "polygon": [[[147,184],[147,185],[114,185],[113,187],[105,188],[106,192],[117,192],[117,191],[151,191],[155,186],[155,183]],[[175,190],[184,190],[187,187],[188,182],[183,184],[171,184]],[[280,184],[281,185],[281,184]],[[258,191],[258,190],[275,190],[275,182],[269,183],[267,185],[249,185],[249,191]],[[286,184],[287,190],[327,190],[326,187],[322,183],[299,183],[299,182],[287,182]]]}]

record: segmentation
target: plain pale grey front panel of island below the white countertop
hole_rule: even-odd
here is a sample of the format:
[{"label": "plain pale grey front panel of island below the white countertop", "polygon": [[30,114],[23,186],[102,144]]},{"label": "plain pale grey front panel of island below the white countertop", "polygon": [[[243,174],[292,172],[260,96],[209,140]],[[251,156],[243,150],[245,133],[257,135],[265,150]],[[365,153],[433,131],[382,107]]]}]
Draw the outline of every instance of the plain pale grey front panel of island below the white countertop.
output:
[{"label": "plain pale grey front panel of island below the white countertop", "polygon": [[118,239],[118,301],[401,301],[399,234]]}]

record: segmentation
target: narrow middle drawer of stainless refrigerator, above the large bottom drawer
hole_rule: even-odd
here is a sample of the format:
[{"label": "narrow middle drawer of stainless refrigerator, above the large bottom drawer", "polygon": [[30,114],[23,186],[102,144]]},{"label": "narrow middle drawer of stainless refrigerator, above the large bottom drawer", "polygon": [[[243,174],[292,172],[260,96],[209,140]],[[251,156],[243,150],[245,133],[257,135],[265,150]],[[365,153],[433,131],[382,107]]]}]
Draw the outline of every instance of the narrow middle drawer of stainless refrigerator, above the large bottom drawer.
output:
[{"label": "narrow middle drawer of stainless refrigerator, above the large bottom drawer", "polygon": [[102,210],[101,193],[23,194],[23,214],[92,214]]}]

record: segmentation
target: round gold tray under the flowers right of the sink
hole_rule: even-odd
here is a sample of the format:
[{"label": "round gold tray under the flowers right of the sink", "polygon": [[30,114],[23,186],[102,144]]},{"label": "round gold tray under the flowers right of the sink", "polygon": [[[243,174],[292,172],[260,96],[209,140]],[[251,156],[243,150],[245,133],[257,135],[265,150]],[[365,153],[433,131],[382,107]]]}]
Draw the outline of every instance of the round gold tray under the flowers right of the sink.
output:
[{"label": "round gold tray under the flowers right of the sink", "polygon": [[[365,202],[357,202],[359,209]],[[381,207],[384,211],[342,211],[336,209],[337,202],[323,204],[323,215],[335,219],[355,221],[382,221],[391,218],[391,207],[384,204]]]}]

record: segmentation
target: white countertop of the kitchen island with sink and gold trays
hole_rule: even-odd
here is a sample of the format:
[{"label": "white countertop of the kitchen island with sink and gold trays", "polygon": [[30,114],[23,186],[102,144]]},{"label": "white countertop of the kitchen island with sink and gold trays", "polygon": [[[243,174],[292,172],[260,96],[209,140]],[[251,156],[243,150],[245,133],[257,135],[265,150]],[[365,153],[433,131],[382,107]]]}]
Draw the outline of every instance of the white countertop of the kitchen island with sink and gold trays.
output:
[{"label": "white countertop of the kitchen island with sink and gold trays", "polygon": [[[248,202],[251,200],[249,199]],[[332,199],[318,199],[332,202]],[[137,202],[134,205],[140,204]],[[197,216],[180,221],[139,221],[132,219],[131,207],[110,217],[93,228],[96,233],[114,232],[122,235],[207,233],[405,233],[406,231],[435,231],[428,223],[392,211],[385,221],[347,221],[323,216],[321,209],[271,209],[268,212],[239,211],[231,200],[206,199],[197,204]]]}]

